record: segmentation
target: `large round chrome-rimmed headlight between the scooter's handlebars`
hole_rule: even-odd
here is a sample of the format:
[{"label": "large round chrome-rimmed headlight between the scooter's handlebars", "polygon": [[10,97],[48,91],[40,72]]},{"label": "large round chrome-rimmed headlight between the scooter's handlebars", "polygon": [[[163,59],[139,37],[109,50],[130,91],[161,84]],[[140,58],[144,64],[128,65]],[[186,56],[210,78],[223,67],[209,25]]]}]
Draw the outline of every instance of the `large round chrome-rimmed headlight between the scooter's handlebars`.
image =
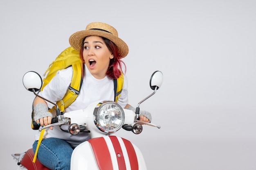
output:
[{"label": "large round chrome-rimmed headlight between the scooter's handlebars", "polygon": [[94,123],[105,133],[114,133],[124,124],[124,110],[116,102],[103,101],[94,109]]}]

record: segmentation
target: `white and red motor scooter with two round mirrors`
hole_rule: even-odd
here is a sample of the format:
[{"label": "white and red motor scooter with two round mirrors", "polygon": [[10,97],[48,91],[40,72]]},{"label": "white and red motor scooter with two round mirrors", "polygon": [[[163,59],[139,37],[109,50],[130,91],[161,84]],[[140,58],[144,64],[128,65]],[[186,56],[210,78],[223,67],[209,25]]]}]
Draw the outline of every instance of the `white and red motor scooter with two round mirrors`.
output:
[{"label": "white and red motor scooter with two round mirrors", "polygon": [[[25,88],[40,98],[43,97],[36,92],[42,87],[42,82],[41,76],[33,71],[23,76]],[[138,103],[135,113],[123,109],[116,102],[106,100],[94,102],[85,109],[64,113],[54,102],[43,98],[56,106],[56,116],[54,115],[52,124],[41,126],[39,131],[43,135],[45,129],[59,126],[61,130],[72,135],[89,133],[91,139],[74,148],[71,170],[146,170],[146,163],[139,148],[115,133],[122,128],[140,134],[143,130],[142,124],[160,129],[160,126],[155,124],[139,121],[139,106],[156,93],[162,82],[162,72],[155,71],[150,77],[150,88],[154,92]],[[68,125],[67,129],[63,129],[62,125]],[[17,170],[49,170],[38,161],[32,148],[24,153],[11,155],[18,162]]]}]

